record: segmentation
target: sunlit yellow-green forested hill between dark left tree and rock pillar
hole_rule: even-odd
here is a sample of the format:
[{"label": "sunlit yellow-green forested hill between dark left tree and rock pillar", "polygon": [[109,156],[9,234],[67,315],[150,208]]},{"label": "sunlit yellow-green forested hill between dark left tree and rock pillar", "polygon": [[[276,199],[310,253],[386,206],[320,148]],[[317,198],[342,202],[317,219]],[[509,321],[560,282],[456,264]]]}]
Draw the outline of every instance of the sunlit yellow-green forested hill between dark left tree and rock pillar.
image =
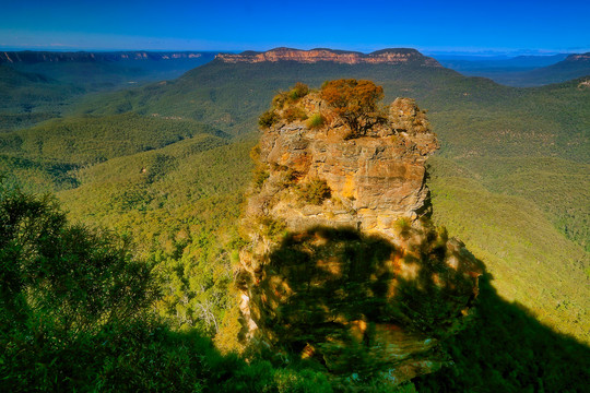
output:
[{"label": "sunlit yellow-green forested hill between dark left tree and rock pillar", "polygon": [[80,187],[59,198],[71,216],[135,239],[163,281],[162,315],[214,335],[233,305],[231,262],[249,148],[193,138],[83,169]]}]

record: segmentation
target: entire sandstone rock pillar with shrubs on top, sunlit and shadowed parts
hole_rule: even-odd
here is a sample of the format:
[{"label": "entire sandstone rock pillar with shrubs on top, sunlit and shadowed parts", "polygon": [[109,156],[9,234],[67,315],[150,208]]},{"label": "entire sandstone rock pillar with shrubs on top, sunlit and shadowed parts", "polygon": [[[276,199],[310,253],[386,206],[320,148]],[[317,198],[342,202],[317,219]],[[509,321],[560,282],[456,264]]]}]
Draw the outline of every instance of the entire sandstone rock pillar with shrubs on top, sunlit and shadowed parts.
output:
[{"label": "entire sandstone rock pillar with shrubs on top, sunlit and shadowed parts", "polygon": [[381,96],[368,81],[297,84],[261,116],[238,288],[247,342],[399,383],[448,362],[438,344],[481,270],[428,219],[424,111]]}]

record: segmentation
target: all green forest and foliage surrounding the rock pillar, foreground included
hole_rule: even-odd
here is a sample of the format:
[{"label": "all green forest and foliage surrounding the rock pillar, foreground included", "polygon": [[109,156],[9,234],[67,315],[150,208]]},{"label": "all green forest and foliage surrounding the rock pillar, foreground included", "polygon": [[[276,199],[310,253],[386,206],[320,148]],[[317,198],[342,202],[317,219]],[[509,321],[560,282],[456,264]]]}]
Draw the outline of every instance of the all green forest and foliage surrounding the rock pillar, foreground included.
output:
[{"label": "all green forest and foliage surrounding the rock pillar, foreground included", "polygon": [[[444,343],[455,366],[394,389],[378,374],[331,376],[314,361],[243,352],[237,341],[234,266],[257,119],[296,82],[317,88],[337,78],[373,80],[385,103],[408,96],[428,109],[442,145],[427,162],[433,219],[486,271],[476,312]],[[0,83],[13,80],[56,83],[22,74]],[[8,102],[1,390],[585,391],[590,90],[582,80],[516,88],[444,68],[213,61],[75,103],[35,97],[62,103],[61,118],[48,106],[33,120],[35,111]]]}]

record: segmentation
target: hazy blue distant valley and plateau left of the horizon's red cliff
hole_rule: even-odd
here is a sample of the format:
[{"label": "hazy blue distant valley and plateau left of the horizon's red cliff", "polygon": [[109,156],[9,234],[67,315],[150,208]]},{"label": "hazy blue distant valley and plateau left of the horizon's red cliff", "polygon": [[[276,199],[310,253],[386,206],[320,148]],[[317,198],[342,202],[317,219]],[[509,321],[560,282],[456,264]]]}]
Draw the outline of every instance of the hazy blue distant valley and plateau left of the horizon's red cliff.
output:
[{"label": "hazy blue distant valley and plateau left of the horizon's red cliff", "polygon": [[174,79],[213,52],[0,52],[0,132],[59,117],[81,95]]}]

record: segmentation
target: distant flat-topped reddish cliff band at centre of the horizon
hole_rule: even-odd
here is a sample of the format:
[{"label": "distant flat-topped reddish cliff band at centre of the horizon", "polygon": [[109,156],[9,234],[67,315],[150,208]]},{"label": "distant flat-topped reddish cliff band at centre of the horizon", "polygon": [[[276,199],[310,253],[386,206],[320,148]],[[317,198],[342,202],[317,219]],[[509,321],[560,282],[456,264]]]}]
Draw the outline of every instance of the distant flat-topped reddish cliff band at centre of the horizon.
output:
[{"label": "distant flat-topped reddish cliff band at centre of the horizon", "polygon": [[296,61],[302,63],[316,63],[331,61],[343,64],[404,64],[418,63],[426,67],[441,67],[433,58],[425,57],[415,49],[384,49],[373,53],[342,51],[331,49],[299,50],[291,48],[275,48],[266,52],[247,51],[243,53],[220,53],[216,59],[228,62],[258,63],[263,61]]}]

